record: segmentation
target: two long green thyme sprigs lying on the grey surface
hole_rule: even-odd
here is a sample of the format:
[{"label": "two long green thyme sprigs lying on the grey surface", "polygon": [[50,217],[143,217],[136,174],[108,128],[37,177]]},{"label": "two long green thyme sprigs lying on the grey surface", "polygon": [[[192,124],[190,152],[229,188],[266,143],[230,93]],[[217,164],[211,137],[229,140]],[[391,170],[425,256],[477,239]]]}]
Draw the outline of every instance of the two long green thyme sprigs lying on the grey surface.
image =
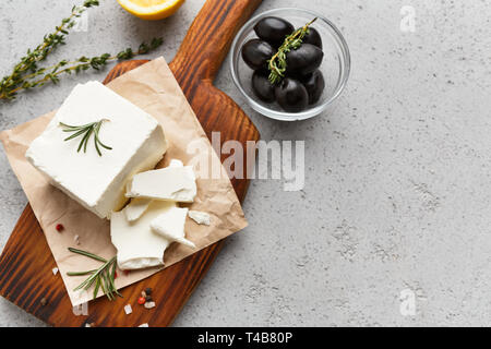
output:
[{"label": "two long green thyme sprigs lying on the grey surface", "polygon": [[137,50],[127,48],[113,56],[110,53],[92,58],[82,56],[75,60],[64,59],[51,67],[39,68],[39,63],[46,60],[49,53],[60,45],[65,44],[67,35],[76,24],[77,19],[86,10],[97,5],[99,5],[98,0],[85,0],[82,5],[74,5],[71,14],[61,21],[61,24],[55,28],[55,32],[45,35],[43,44],[35,49],[28,49],[21,61],[14,65],[11,74],[0,81],[0,100],[14,99],[19,92],[40,87],[49,82],[57,84],[62,74],[80,73],[88,69],[99,70],[110,61],[127,60],[136,55],[145,55],[161,45],[161,38],[154,38],[149,44],[141,44]]}]

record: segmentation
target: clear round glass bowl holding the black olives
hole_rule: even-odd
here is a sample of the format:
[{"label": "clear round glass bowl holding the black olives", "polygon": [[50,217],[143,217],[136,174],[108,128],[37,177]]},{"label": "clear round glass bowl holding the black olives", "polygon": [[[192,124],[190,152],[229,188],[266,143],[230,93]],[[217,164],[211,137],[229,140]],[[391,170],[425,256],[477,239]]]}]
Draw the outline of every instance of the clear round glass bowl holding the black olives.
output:
[{"label": "clear round glass bowl holding the black olives", "polygon": [[[266,16],[277,16],[289,21],[296,28],[318,17],[312,27],[322,37],[324,58],[319,68],[324,75],[325,89],[321,99],[300,112],[284,111],[277,103],[265,103],[252,91],[251,79],[253,70],[242,60],[241,49],[244,43],[255,38],[254,25]],[[237,34],[231,47],[230,69],[233,83],[246,97],[248,104],[258,112],[276,120],[296,121],[315,117],[323,112],[343,92],[350,70],[350,56],[339,29],[322,14],[310,10],[283,8],[263,12],[247,22]]]}]

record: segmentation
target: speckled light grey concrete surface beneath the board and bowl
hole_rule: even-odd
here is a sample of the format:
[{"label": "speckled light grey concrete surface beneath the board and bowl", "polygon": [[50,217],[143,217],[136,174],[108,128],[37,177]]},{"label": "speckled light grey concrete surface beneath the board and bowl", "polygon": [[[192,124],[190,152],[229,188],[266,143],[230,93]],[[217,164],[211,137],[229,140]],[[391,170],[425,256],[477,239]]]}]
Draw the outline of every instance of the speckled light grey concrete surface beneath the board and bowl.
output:
[{"label": "speckled light grey concrete surface beneath the board and bowl", "polygon": [[[156,23],[116,1],[91,11],[53,59],[115,52],[163,35],[171,60],[204,0]],[[338,25],[352,56],[348,88],[315,119],[280,123],[253,112],[224,64],[216,85],[252,118],[263,140],[304,140],[306,188],[252,183],[250,227],[228,239],[176,326],[491,325],[490,2],[312,0]],[[299,5],[266,0],[264,11]],[[400,8],[416,32],[399,29]],[[0,2],[0,73],[35,46],[70,1]],[[0,105],[0,129],[55,109],[79,82]],[[26,198],[0,152],[0,248]],[[403,316],[400,292],[416,313]],[[0,300],[0,325],[43,325]]]}]

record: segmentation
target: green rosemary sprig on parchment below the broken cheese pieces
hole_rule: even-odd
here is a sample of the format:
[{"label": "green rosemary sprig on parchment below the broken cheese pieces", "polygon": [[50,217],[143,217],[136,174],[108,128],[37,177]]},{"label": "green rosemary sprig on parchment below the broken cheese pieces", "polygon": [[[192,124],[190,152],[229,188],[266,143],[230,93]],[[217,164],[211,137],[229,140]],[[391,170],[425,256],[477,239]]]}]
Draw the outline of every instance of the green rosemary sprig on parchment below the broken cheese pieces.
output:
[{"label": "green rosemary sprig on parchment below the broken cheese pieces", "polygon": [[69,248],[70,252],[77,253],[81,255],[84,255],[86,257],[103,262],[104,264],[93,270],[87,272],[69,272],[67,273],[68,276],[83,276],[83,275],[91,275],[88,278],[85,279],[82,284],[80,284],[76,288],[74,288],[74,291],[77,290],[88,290],[94,285],[94,292],[93,298],[97,298],[97,293],[99,289],[103,290],[104,294],[109,300],[116,299],[116,296],[122,297],[122,294],[117,290],[115,286],[115,277],[116,277],[116,256],[107,261],[106,258],[99,257],[98,255],[95,255],[94,253],[86,252],[83,250],[77,250],[73,248]]}]

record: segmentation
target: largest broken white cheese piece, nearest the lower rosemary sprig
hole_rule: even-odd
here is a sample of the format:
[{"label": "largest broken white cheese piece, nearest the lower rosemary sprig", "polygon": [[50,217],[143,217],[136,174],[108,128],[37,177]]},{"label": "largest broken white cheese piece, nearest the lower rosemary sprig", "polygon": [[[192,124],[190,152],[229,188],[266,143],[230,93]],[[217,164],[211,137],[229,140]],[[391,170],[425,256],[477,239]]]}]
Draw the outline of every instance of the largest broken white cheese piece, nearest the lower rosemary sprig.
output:
[{"label": "largest broken white cheese piece, nearest the lower rosemary sprig", "polygon": [[164,265],[164,252],[171,243],[155,233],[151,222],[161,214],[176,208],[172,202],[154,201],[139,220],[130,222],[123,212],[111,215],[111,241],[118,250],[120,269],[141,269]]}]

